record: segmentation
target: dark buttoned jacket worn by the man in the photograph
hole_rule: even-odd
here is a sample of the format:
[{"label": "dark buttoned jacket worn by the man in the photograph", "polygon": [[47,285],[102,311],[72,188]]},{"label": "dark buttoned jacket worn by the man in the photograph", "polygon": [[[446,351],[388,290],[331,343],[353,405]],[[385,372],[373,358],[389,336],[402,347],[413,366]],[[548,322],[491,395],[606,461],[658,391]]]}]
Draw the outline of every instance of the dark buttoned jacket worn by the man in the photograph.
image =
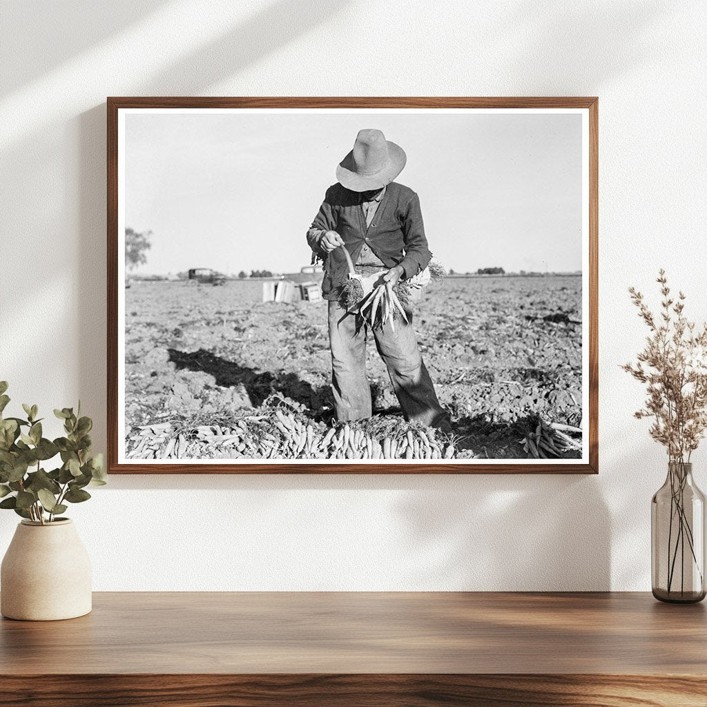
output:
[{"label": "dark buttoned jacket worn by the man in the photograph", "polygon": [[[368,243],[386,267],[402,265],[406,278],[425,269],[432,257],[425,238],[420,199],[412,189],[397,182],[387,185],[368,228],[361,208],[361,194],[337,182],[327,189],[312,228],[335,230],[344,240],[353,262],[358,259],[363,243]],[[346,257],[341,248],[327,254],[320,250],[318,239],[308,240],[315,255],[324,262],[322,295],[328,300],[337,299],[339,288],[349,275]]]}]

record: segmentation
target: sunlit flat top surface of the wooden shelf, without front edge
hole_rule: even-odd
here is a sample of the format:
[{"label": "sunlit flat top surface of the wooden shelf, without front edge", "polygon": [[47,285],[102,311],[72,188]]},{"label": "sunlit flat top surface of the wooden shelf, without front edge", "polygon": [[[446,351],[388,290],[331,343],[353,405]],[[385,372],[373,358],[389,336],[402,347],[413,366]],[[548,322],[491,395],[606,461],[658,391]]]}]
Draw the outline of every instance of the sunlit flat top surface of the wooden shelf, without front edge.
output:
[{"label": "sunlit flat top surface of the wooden shelf, without front edge", "polygon": [[704,604],[643,593],[96,592],[0,622],[16,674],[707,674]]}]

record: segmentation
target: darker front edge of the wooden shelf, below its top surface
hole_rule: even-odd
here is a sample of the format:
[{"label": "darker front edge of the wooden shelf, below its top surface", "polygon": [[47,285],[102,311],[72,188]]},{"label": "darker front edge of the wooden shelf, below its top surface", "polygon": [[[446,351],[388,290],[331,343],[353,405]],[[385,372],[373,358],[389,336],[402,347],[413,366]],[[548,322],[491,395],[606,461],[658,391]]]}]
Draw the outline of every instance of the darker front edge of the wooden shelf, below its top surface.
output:
[{"label": "darker front edge of the wooden shelf, below its top surface", "polygon": [[705,707],[699,677],[47,675],[0,678],[4,707]]}]

